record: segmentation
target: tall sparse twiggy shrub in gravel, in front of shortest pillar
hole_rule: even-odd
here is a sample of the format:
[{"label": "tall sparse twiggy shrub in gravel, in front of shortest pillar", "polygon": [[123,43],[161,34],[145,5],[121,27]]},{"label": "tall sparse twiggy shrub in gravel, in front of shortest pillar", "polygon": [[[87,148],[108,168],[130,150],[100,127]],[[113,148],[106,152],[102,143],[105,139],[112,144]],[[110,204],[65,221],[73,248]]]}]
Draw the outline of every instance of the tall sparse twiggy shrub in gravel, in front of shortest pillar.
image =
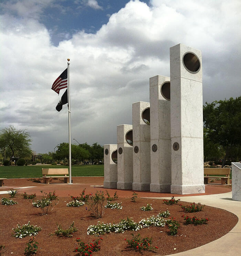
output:
[{"label": "tall sparse twiggy shrub in gravel, in front of shortest pillar", "polygon": [[87,201],[89,210],[92,211],[92,214],[97,219],[103,217],[105,213],[104,201],[104,192],[99,192],[98,190],[96,191],[95,195],[90,195]]}]

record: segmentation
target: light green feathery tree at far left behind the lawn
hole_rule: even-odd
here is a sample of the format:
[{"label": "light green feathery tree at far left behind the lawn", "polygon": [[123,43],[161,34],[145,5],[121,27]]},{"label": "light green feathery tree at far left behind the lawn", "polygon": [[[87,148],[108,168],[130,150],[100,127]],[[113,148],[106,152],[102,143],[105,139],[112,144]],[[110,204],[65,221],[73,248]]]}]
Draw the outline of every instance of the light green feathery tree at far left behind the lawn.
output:
[{"label": "light green feathery tree at far left behind the lawn", "polygon": [[25,130],[17,130],[11,125],[2,129],[0,132],[0,149],[3,160],[9,158],[9,164],[11,164],[12,158],[18,160],[30,156],[32,154],[30,142],[30,135]]}]

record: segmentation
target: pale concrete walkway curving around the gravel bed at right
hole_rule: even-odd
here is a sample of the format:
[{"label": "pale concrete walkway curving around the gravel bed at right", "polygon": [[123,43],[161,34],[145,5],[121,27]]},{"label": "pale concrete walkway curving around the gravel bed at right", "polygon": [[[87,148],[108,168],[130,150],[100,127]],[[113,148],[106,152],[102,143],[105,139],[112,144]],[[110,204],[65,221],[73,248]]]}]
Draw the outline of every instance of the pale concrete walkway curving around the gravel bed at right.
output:
[{"label": "pale concrete walkway curving around the gravel bed at right", "polygon": [[[170,197],[171,198],[171,197]],[[168,199],[170,199],[168,198]],[[187,196],[182,198],[186,202],[200,202],[208,206],[221,208],[235,214],[239,220],[232,230],[226,235],[213,242],[202,245],[195,249],[182,253],[172,254],[175,256],[234,256],[241,255],[241,201],[232,200],[232,192],[216,195]]]}]

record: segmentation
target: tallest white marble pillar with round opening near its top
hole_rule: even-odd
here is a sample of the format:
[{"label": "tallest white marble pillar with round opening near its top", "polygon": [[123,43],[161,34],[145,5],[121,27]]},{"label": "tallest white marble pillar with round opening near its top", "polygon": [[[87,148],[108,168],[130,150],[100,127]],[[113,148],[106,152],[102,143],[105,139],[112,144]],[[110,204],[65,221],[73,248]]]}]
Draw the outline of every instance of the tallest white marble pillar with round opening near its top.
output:
[{"label": "tallest white marble pillar with round opening near its top", "polygon": [[171,193],[205,193],[201,51],[171,47],[170,78]]}]

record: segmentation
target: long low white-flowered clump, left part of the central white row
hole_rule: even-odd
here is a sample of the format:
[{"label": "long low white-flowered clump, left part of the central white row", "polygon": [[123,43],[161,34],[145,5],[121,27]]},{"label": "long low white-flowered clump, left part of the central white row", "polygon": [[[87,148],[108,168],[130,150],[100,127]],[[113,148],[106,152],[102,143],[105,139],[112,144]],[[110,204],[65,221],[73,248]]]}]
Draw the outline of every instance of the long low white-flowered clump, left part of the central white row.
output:
[{"label": "long low white-flowered clump, left part of the central white row", "polygon": [[127,220],[122,219],[119,223],[117,224],[111,224],[111,223],[107,223],[104,224],[103,222],[100,223],[100,221],[98,221],[97,225],[90,225],[87,228],[87,235],[95,235],[95,236],[99,236],[99,235],[103,235],[105,233],[124,233],[126,230],[139,230],[141,229],[142,226],[135,223],[132,219],[129,219],[127,217]]}]

